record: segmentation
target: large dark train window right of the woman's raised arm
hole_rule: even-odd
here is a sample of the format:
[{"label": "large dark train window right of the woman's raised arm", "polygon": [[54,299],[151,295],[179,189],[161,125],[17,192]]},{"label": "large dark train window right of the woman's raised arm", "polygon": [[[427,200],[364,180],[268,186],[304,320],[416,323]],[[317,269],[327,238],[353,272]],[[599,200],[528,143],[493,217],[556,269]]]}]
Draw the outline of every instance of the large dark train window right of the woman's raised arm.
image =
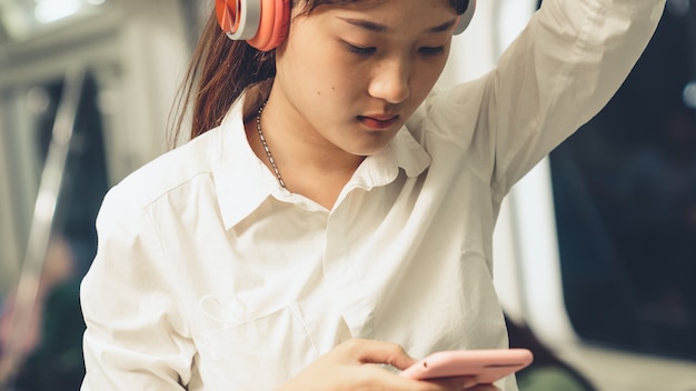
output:
[{"label": "large dark train window right of the woman's raised arm", "polygon": [[696,10],[668,1],[609,104],[550,154],[566,308],[586,341],[696,360]]}]

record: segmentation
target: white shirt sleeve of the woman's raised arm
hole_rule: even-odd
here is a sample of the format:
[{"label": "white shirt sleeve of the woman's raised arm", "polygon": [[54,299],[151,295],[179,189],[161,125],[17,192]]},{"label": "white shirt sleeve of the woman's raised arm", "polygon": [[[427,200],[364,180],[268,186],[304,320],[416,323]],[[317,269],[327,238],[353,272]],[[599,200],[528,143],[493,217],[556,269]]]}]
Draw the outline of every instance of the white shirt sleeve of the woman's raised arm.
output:
[{"label": "white shirt sleeve of the woman's raised arm", "polygon": [[445,137],[461,144],[467,164],[504,196],[616,93],[664,7],[545,0],[491,72],[439,94],[430,109],[448,118]]}]

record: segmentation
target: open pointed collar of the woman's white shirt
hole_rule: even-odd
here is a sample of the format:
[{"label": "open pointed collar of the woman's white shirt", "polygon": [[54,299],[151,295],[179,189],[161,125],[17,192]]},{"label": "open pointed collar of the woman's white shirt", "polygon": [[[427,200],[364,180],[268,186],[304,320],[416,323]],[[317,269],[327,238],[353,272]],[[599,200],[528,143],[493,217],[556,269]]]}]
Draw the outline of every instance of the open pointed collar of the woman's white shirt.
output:
[{"label": "open pointed collar of the woman's white shirt", "polygon": [[[213,179],[226,229],[251,214],[270,196],[281,197],[285,189],[251,150],[243,127],[243,97],[225,116],[215,131],[217,153]],[[368,157],[356,171],[348,188],[371,189],[392,182],[401,168],[406,176],[417,177],[430,166],[430,156],[404,127],[379,153]],[[280,197],[278,197],[280,196]]]}]

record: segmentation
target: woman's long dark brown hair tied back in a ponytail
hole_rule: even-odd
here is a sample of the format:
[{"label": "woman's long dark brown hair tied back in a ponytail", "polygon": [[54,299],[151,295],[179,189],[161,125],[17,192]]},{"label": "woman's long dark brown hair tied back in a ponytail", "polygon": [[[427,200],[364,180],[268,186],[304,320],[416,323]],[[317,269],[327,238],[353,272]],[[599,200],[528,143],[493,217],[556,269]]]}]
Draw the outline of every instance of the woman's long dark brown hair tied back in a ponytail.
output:
[{"label": "woman's long dark brown hair tied back in a ponytail", "polygon": [[[317,7],[348,4],[362,0],[300,1],[305,3],[302,14],[309,14]],[[469,6],[469,0],[449,0],[449,2],[457,14],[463,14]],[[171,144],[175,146],[180,139],[189,110],[192,110],[189,137],[193,139],[219,126],[230,106],[250,86],[259,84],[261,93],[267,93],[268,91],[264,90],[267,90],[270,83],[262,82],[275,76],[276,51],[262,52],[246,41],[230,40],[219,28],[213,10],[193,50],[191,62],[175,100],[172,113],[176,121]]]}]

